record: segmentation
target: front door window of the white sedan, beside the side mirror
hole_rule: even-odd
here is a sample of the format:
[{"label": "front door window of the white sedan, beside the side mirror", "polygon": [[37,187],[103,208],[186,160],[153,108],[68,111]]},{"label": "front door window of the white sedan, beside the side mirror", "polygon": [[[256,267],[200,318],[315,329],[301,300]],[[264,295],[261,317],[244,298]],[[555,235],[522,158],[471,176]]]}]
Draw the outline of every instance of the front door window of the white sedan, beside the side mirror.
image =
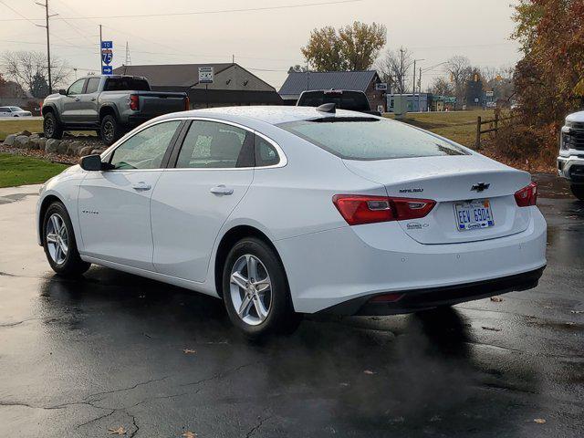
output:
[{"label": "front door window of the white sedan, beside the side mirror", "polygon": [[163,121],[141,130],[113,151],[110,163],[114,169],[160,169],[164,153],[181,120]]}]

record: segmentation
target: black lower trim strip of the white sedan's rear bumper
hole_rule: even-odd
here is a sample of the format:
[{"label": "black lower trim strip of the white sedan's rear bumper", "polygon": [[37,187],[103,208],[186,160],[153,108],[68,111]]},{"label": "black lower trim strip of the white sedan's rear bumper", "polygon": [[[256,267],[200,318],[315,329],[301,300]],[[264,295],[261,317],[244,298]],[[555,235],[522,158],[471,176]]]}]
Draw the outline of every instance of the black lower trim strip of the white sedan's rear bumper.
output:
[{"label": "black lower trim strip of the white sedan's rear bumper", "polygon": [[464,285],[391,292],[391,296],[401,296],[391,302],[375,300],[376,298],[384,297],[383,294],[358,297],[331,308],[325,308],[318,313],[361,316],[396,315],[417,312],[428,308],[453,306],[454,304],[473,301],[474,299],[493,297],[495,295],[505,294],[506,292],[537,287],[537,283],[544,269],[545,266],[534,269],[533,271],[516,274],[515,276],[504,276]]}]

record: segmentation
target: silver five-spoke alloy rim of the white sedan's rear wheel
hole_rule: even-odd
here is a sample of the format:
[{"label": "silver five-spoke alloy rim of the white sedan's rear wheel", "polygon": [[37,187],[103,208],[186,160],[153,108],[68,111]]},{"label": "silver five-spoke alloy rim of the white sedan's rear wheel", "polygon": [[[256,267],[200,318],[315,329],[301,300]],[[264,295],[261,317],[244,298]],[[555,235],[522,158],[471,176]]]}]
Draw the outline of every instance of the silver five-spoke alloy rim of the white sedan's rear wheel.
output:
[{"label": "silver five-spoke alloy rim of the white sedan's rear wheel", "polygon": [[272,305],[272,282],[255,255],[242,255],[235,261],[230,292],[235,312],[246,324],[257,326],[266,320]]}]

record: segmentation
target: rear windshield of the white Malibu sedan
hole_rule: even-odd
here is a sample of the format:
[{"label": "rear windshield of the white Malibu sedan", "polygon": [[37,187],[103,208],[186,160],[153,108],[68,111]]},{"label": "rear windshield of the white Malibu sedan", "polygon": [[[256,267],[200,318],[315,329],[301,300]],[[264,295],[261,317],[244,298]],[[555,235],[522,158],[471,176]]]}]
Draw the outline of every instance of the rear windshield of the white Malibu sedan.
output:
[{"label": "rear windshield of the white Malibu sedan", "polygon": [[399,121],[331,117],[278,126],[346,160],[468,154],[454,143]]}]

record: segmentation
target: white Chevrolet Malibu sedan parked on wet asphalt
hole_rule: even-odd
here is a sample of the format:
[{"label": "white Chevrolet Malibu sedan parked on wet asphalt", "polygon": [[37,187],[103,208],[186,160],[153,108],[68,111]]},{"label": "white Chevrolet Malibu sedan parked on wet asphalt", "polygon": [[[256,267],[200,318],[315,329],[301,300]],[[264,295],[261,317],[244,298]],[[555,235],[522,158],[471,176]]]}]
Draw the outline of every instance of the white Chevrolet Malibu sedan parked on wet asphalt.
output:
[{"label": "white Chevrolet Malibu sedan parked on wet asphalt", "polygon": [[527,172],[323,107],[169,114],[85,157],[41,188],[50,266],[221,297],[249,336],[301,313],[387,315],[537,285],[546,222]]}]

